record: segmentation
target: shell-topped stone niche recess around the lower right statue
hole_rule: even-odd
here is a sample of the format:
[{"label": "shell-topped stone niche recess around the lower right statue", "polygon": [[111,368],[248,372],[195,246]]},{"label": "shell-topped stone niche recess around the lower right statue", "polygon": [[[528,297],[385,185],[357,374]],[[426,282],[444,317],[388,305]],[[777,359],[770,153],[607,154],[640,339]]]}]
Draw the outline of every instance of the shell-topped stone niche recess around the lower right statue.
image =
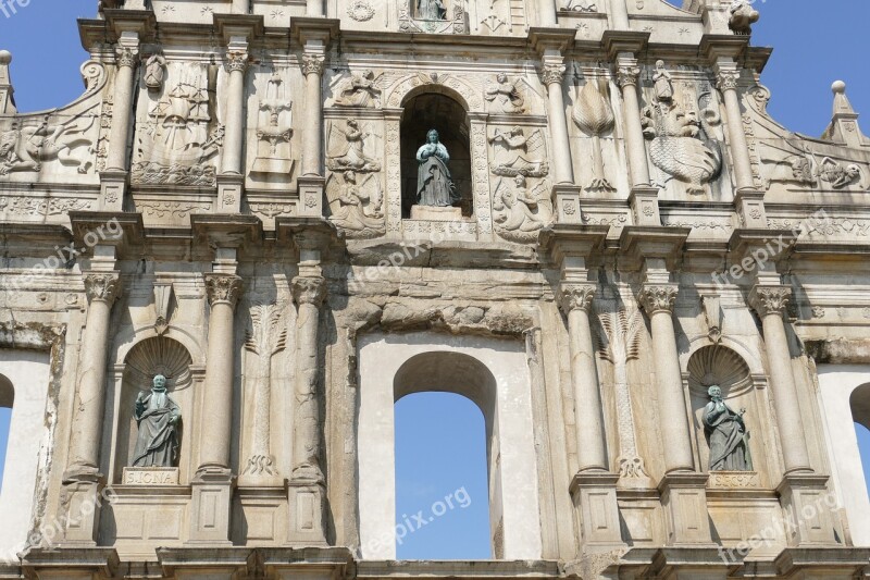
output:
[{"label": "shell-topped stone niche recess around the lower right statue", "polygon": [[[712,385],[722,388],[722,398],[736,412],[746,409],[744,421],[749,431],[749,452],[755,470],[762,470],[770,465],[768,452],[772,447],[765,444],[766,406],[756,396],[749,366],[737,353],[722,345],[704,346],[688,359],[688,392],[692,402],[692,414],[698,447],[698,460],[704,471],[709,471],[710,449],[704,431],[704,408],[710,402],[707,393]],[[747,484],[758,486],[759,482]]]}]

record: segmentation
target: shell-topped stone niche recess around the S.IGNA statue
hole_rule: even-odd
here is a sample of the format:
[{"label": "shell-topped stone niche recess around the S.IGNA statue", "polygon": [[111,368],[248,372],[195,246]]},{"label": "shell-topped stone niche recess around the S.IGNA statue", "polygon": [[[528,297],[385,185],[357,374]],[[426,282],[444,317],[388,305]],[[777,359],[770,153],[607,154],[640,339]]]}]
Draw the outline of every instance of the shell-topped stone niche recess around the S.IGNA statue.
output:
[{"label": "shell-topped stone niche recess around the S.IGNA statue", "polygon": [[182,409],[182,419],[177,424],[181,443],[177,467],[181,468],[182,479],[185,479],[191,445],[184,432],[192,432],[190,427],[196,405],[191,363],[190,353],[184,345],[165,336],[146,338],[135,344],[127,353],[116,407],[117,436],[113,470],[115,483],[121,483],[123,468],[130,466],[136,447],[138,427],[133,415],[136,397],[140,392],[151,390],[156,374],[166,378],[166,391]]}]

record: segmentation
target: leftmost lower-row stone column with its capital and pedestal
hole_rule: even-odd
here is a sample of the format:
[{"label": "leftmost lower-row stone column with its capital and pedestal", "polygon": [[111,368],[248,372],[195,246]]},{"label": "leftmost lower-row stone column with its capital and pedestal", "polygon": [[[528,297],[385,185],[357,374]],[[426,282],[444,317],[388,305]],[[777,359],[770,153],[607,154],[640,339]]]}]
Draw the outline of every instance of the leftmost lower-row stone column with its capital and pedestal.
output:
[{"label": "leftmost lower-row stone column with its capital and pedestal", "polygon": [[96,545],[99,522],[98,494],[104,483],[100,472],[100,443],[105,411],[105,366],[112,305],[121,294],[119,272],[85,274],[88,306],[82,335],[76,412],[70,437],[70,456],[63,476],[69,498],[64,543]]}]

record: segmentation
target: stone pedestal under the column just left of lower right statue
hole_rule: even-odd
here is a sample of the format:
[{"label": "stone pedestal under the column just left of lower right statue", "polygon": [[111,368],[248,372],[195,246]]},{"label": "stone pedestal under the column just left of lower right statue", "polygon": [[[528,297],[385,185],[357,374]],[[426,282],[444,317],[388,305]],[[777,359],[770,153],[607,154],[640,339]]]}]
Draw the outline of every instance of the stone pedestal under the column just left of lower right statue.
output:
[{"label": "stone pedestal under the column just left of lower right statue", "polygon": [[673,547],[714,547],[707,514],[707,473],[668,473],[659,482],[668,527],[667,544]]}]

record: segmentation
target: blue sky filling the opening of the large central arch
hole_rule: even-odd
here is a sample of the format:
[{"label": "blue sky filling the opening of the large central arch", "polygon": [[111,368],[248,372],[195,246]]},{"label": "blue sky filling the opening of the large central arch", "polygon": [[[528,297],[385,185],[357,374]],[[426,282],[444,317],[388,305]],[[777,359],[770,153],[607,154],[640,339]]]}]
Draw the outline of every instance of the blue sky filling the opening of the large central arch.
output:
[{"label": "blue sky filling the opening of the large central arch", "polygon": [[395,405],[399,559],[487,559],[484,415],[471,399],[423,392]]}]

